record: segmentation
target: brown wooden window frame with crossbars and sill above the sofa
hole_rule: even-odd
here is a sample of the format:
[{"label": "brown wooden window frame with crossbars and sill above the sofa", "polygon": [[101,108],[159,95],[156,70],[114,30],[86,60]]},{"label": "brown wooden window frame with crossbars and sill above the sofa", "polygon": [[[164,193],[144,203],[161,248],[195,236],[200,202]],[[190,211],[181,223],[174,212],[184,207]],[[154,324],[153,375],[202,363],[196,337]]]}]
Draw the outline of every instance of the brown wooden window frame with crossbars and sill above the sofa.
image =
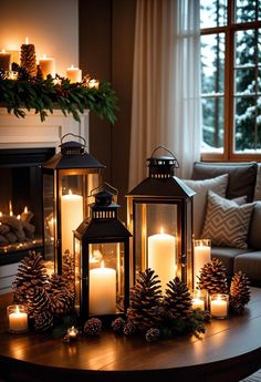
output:
[{"label": "brown wooden window frame with crossbars and sill above the sofa", "polygon": [[[261,153],[233,152],[233,115],[234,115],[234,37],[237,31],[261,28],[261,21],[234,23],[236,1],[228,0],[228,20],[222,27],[200,29],[200,35],[225,34],[225,85],[223,85],[223,153],[201,153],[206,162],[261,162]],[[258,2],[257,2],[258,4]]]}]

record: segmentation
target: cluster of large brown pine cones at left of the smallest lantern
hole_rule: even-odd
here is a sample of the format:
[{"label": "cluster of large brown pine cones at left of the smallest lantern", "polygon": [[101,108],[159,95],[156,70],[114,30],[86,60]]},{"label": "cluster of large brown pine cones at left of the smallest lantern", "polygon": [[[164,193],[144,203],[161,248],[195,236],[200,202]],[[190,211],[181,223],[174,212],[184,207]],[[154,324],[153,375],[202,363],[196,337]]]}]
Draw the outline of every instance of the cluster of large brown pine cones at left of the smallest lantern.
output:
[{"label": "cluster of large brown pine cones at left of the smallest lantern", "polygon": [[55,273],[49,277],[40,252],[29,251],[21,260],[13,289],[14,302],[28,304],[29,320],[36,331],[51,329],[55,318],[73,309],[70,282]]}]

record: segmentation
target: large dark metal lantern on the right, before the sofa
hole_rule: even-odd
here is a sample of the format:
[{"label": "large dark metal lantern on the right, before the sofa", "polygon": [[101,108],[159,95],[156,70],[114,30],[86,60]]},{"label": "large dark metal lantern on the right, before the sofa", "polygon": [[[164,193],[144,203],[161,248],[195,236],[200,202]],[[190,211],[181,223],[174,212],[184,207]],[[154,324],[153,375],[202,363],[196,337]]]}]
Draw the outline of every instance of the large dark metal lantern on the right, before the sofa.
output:
[{"label": "large dark metal lantern on the right, before the sofa", "polygon": [[[163,148],[171,156],[155,156]],[[152,268],[163,291],[176,276],[192,287],[192,196],[175,176],[176,157],[158,146],[147,159],[149,175],[128,193],[128,228],[133,234],[133,282]]]}]

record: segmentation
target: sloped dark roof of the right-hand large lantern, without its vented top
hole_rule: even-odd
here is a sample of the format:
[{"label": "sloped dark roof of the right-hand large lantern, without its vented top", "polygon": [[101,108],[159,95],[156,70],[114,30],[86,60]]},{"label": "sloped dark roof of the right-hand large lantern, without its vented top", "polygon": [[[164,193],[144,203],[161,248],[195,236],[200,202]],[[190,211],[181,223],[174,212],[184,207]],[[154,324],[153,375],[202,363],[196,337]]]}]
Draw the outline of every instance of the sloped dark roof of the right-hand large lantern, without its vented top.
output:
[{"label": "sloped dark roof of the right-hand large lantern, without its vented top", "polygon": [[147,177],[134,187],[127,196],[190,198],[196,193],[177,176],[167,178]]}]

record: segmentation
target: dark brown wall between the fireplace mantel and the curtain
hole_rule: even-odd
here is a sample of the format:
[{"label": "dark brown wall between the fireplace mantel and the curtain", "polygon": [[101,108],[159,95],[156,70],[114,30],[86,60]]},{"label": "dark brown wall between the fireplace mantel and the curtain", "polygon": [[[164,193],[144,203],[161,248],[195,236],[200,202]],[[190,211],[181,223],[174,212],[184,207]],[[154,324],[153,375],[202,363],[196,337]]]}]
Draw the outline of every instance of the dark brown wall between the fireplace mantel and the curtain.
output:
[{"label": "dark brown wall between the fireplace mantel and the curtain", "polygon": [[80,66],[109,81],[118,96],[114,125],[90,115],[91,153],[104,165],[104,179],[119,192],[126,220],[136,0],[80,0]]}]

